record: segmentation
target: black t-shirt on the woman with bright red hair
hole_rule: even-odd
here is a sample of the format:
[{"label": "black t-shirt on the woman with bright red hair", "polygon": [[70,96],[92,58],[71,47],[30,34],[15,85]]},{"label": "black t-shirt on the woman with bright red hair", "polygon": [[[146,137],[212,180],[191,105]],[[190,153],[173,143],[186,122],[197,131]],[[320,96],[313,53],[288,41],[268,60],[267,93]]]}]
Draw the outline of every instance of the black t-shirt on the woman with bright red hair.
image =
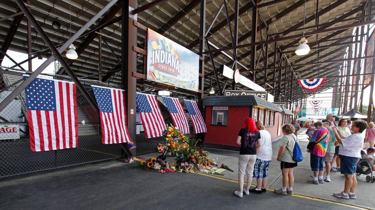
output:
[{"label": "black t-shirt on the woman with bright red hair", "polygon": [[248,128],[243,128],[238,135],[241,136],[240,155],[256,155],[255,143],[261,138],[260,132],[248,133]]}]

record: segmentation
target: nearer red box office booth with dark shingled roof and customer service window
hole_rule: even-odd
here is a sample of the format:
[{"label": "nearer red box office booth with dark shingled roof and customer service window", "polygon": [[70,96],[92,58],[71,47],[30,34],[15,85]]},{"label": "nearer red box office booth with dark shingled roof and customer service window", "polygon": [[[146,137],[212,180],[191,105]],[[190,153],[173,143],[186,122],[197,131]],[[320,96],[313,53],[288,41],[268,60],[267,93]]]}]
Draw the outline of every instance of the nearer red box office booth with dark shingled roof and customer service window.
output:
[{"label": "nearer red box office booth with dark shingled roof and customer service window", "polygon": [[245,118],[261,120],[271,138],[275,139],[282,135],[282,125],[290,123],[293,115],[290,110],[254,95],[206,96],[203,106],[207,126],[205,145],[226,149],[239,149],[236,139]]}]

